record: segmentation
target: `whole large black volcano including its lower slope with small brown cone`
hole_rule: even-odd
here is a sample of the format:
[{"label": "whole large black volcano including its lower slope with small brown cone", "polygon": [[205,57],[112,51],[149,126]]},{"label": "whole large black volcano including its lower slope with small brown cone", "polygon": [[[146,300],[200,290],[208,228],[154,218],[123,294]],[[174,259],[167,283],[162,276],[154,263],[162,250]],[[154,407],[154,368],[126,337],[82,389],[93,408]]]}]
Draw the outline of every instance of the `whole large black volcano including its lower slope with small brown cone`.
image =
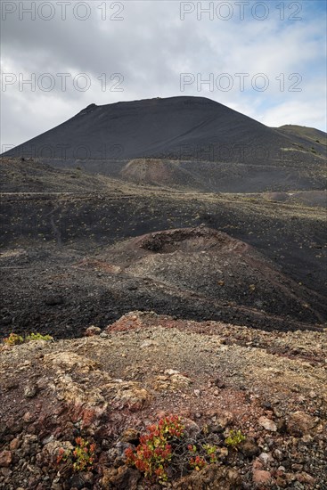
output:
[{"label": "whole large black volcano including its lower slope with small brown cone", "polygon": [[326,135],[266,127],[203,97],[92,104],[3,158],[199,192],[323,191]]}]

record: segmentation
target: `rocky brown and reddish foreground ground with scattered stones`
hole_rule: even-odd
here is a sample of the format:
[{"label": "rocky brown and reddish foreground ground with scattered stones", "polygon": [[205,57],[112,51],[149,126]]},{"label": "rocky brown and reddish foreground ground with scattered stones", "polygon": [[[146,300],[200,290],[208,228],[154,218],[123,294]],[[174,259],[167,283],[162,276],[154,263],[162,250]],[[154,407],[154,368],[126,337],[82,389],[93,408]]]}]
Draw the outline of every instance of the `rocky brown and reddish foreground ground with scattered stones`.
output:
[{"label": "rocky brown and reddish foreground ground with scattered stones", "polygon": [[[326,331],[153,313],[3,344],[0,488],[326,489],[326,374]],[[166,459],[144,478],[131,455],[159,421]]]}]

